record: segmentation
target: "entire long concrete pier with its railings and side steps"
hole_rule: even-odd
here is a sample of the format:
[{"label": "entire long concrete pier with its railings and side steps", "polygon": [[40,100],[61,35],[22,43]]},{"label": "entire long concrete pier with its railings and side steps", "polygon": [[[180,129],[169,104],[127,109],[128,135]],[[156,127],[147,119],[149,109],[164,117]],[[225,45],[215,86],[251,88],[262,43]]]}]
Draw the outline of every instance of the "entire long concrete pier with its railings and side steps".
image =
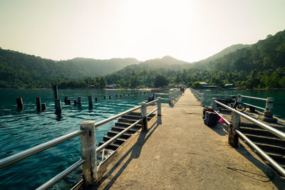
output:
[{"label": "entire long concrete pier with its railings and side steps", "polygon": [[[154,100],[140,102],[105,120],[83,121],[77,131],[1,159],[0,169],[81,136],[81,159],[38,189],[50,188],[78,167],[82,167],[83,179],[73,189],[284,189],[283,120],[274,118],[277,122],[270,125],[275,130],[269,123],[259,124],[262,130],[254,126],[259,122],[254,121],[254,112],[250,109],[247,115],[255,124],[249,126],[248,116],[212,98],[214,110],[217,105],[225,108],[220,113],[227,125],[217,123],[208,127],[202,120],[201,102],[206,101],[200,98],[203,101],[199,102],[198,96],[189,89],[185,93],[178,90],[155,93],[152,97]],[[272,105],[273,100],[269,103]],[[264,110],[272,112],[272,106],[268,105],[266,102]],[[259,115],[264,116],[264,113]],[[115,126],[95,147],[94,129],[113,120],[117,121]],[[264,139],[269,142],[268,137],[256,137],[269,135],[265,131],[280,137],[273,136],[276,144],[259,142]],[[265,152],[249,147],[251,142],[244,142],[242,132],[255,144],[265,147]],[[270,159],[264,161],[259,155],[270,156],[278,163]]]}]

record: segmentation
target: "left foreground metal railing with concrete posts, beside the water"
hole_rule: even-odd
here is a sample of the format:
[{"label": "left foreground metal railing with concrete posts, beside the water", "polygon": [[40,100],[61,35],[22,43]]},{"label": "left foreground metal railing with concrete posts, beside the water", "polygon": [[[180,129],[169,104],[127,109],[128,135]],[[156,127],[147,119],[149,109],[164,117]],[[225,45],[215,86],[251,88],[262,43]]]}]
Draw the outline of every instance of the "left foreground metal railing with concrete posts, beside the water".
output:
[{"label": "left foreground metal railing with concrete posts, beside the water", "polygon": [[[155,110],[152,110],[150,113],[147,114],[147,105],[151,105],[153,103],[157,102],[157,108]],[[85,121],[81,122],[81,130],[77,130],[75,132],[71,132],[69,134],[63,135],[61,137],[58,137],[56,139],[53,139],[51,141],[45,142],[43,144],[38,144],[35,147],[32,147],[31,149],[26,149],[23,152],[19,152],[17,154],[14,154],[10,157],[6,157],[4,159],[0,160],[0,169],[9,166],[10,164],[13,164],[15,162],[19,162],[22,159],[25,159],[27,157],[31,157],[34,154],[37,154],[38,152],[41,152],[45,149],[48,149],[50,147],[55,146],[56,144],[60,144],[61,142],[66,142],[68,139],[72,139],[74,137],[77,137],[81,135],[81,154],[82,159],[78,160],[75,164],[73,164],[71,167],[68,167],[64,171],[61,171],[60,174],[57,174],[52,179],[46,181],[45,184],[42,184],[38,187],[38,189],[48,189],[53,184],[56,184],[58,181],[63,179],[63,177],[70,174],[72,171],[77,169],[78,167],[83,167],[83,186],[89,186],[91,184],[95,184],[95,182],[98,179],[97,176],[97,157],[96,153],[100,152],[101,150],[105,149],[105,147],[108,147],[109,144],[115,141],[115,139],[118,139],[120,136],[125,134],[125,132],[128,132],[132,127],[137,125],[139,122],[142,122],[142,130],[147,130],[147,116],[151,115],[153,112],[157,111],[157,115],[161,116],[161,98],[157,97],[156,100],[153,100],[152,102],[141,102],[141,105],[137,107],[133,107],[130,110],[126,110],[125,112],[121,112],[118,115],[114,115],[113,117],[109,117],[106,120],[102,120],[95,124],[95,121]],[[117,119],[118,117],[121,117],[123,115],[127,115],[130,112],[133,112],[135,110],[140,109],[142,118],[136,122],[134,122],[129,127],[125,128],[122,132],[115,135],[112,139],[109,139],[107,142],[102,144],[100,147],[96,149],[95,147],[95,127],[100,127],[101,125],[104,125],[107,122],[110,122],[112,120]],[[161,124],[161,118],[160,118]],[[82,181],[82,180],[81,180]],[[81,184],[78,183],[78,184]]]}]

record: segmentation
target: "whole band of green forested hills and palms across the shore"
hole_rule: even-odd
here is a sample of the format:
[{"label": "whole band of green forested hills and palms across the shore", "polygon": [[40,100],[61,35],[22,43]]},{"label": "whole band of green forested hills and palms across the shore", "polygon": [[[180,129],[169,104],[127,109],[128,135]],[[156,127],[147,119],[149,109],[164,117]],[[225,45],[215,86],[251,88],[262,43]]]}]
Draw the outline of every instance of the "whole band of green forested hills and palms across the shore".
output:
[{"label": "whole band of green forested hills and palms across the shore", "polygon": [[237,88],[285,88],[285,31],[252,45],[230,46],[196,63],[170,56],[142,63],[135,58],[54,61],[0,48],[0,88],[51,83],[61,88],[103,88],[105,84],[136,88],[192,85],[196,81],[219,88],[226,83]]}]

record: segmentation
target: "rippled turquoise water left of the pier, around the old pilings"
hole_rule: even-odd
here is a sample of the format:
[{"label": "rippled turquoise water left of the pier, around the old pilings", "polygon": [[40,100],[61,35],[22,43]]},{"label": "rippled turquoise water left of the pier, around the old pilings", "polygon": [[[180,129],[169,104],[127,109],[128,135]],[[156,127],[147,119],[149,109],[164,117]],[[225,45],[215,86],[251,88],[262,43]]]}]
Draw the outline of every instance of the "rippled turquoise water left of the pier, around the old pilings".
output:
[{"label": "rippled turquoise water left of the pier, around the old pilings", "polygon": [[[0,159],[47,142],[63,134],[79,130],[84,120],[99,122],[110,116],[140,105],[150,93],[140,95],[140,90],[58,90],[61,100],[71,99],[71,105],[62,104],[62,114],[55,114],[52,90],[0,89]],[[125,97],[115,97],[124,94]],[[133,95],[128,96],[128,94]],[[134,95],[138,93],[138,95]],[[93,96],[93,110],[88,109],[88,95]],[[103,99],[103,95],[106,99]],[[111,100],[108,96],[111,96]],[[73,106],[73,100],[82,97],[82,107]],[[22,97],[24,110],[17,111],[16,97]],[[36,97],[46,103],[46,111],[36,111]],[[98,102],[94,102],[98,97]],[[114,123],[96,128],[96,145]],[[81,139],[76,137],[28,157],[9,167],[0,169],[1,189],[35,189],[81,158]],[[76,169],[54,189],[69,189],[81,179],[81,169]]]}]

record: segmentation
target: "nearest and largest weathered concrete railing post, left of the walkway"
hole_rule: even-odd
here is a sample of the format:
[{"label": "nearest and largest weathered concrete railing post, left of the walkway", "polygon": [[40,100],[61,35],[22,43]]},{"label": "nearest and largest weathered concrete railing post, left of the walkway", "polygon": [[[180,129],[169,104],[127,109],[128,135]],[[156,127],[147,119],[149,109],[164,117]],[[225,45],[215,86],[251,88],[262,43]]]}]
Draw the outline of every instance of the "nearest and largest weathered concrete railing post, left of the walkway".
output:
[{"label": "nearest and largest weathered concrete railing post, left of the walkway", "polygon": [[97,157],[95,149],[95,122],[84,121],[80,125],[84,133],[81,135],[81,154],[86,159],[82,165],[83,186],[92,186],[97,181]]}]

